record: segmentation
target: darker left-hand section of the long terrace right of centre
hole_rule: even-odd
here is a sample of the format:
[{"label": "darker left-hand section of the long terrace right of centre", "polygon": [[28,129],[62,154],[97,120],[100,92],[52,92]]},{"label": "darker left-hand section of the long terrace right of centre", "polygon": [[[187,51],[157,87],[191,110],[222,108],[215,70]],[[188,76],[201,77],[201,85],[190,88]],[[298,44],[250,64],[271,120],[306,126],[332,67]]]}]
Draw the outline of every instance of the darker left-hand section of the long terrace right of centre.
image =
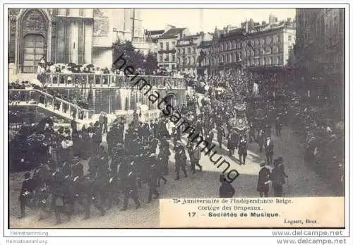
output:
[{"label": "darker left-hand section of the long terrace right of centre", "polygon": [[210,47],[210,73],[224,76],[229,69],[241,66],[244,47],[244,28],[227,26],[215,30]]}]

